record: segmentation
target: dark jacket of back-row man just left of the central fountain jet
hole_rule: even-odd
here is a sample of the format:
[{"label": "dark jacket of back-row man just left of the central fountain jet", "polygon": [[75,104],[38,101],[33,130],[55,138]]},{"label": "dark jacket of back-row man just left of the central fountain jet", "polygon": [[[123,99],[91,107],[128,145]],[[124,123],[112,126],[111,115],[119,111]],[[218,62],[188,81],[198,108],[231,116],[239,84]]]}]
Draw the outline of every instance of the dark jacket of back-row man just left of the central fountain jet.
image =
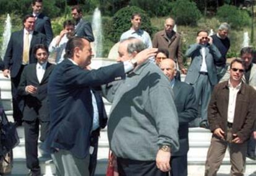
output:
[{"label": "dark jacket of back-row man just left of the central fountain jet", "polygon": [[75,26],[75,35],[83,36],[90,42],[94,41],[92,26],[89,22],[83,19],[80,19],[79,23]]}]

